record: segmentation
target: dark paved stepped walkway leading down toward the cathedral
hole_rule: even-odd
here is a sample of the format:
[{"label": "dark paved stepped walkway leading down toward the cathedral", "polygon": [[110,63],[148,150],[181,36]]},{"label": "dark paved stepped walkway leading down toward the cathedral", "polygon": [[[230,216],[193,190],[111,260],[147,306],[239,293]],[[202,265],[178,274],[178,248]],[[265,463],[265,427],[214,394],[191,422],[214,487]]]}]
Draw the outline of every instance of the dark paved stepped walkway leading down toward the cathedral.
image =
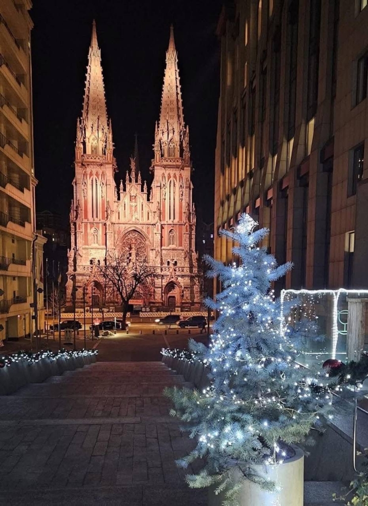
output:
[{"label": "dark paved stepped walkway leading down toward the cathedral", "polygon": [[97,362],[0,397],[0,504],[206,504],[174,462],[193,442],[162,389],[183,383],[160,362]]}]

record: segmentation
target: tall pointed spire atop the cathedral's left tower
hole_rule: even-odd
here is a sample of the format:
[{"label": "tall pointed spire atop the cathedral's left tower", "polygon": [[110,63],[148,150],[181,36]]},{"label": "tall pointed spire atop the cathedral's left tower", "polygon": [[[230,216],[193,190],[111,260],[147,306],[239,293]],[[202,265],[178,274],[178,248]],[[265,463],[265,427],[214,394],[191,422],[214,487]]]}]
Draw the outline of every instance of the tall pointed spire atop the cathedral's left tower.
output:
[{"label": "tall pointed spire atop the cathedral's left tower", "polygon": [[105,155],[112,159],[111,124],[107,117],[101,50],[96,22],[92,24],[82,116],[77,122],[76,154]]}]

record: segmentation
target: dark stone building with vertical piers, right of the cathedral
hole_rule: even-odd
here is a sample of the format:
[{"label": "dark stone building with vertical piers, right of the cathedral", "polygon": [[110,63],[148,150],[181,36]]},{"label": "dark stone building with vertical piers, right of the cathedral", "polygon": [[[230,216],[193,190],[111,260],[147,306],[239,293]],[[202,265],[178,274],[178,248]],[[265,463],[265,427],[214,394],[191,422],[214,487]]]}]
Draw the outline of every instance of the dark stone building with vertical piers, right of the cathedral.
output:
[{"label": "dark stone building with vertical piers, right of the cathedral", "polygon": [[[368,286],[367,26],[366,0],[221,13],[215,224],[249,212],[270,229],[265,246],[294,263],[277,290]],[[216,233],[215,256],[232,260]]]}]

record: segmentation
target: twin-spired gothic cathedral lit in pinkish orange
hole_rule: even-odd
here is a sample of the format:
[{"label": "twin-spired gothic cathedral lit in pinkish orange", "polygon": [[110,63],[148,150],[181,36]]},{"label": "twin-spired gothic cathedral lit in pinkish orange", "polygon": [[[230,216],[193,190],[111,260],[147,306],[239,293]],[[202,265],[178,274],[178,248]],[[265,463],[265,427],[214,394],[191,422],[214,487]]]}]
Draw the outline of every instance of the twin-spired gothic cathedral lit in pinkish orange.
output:
[{"label": "twin-spired gothic cathedral lit in pinkish orange", "polygon": [[148,259],[155,269],[154,289],[143,296],[144,300],[131,301],[133,304],[194,309],[200,303],[189,133],[184,123],[173,27],[150,171],[153,181],[148,191],[135,158],[131,158],[125,181],[115,184],[117,166],[94,22],[83,111],[76,129],[68,304],[74,283],[77,306],[83,300],[84,289],[87,305],[119,304],[118,300],[106,300],[96,268],[116,249],[127,255],[134,252],[137,259]]}]

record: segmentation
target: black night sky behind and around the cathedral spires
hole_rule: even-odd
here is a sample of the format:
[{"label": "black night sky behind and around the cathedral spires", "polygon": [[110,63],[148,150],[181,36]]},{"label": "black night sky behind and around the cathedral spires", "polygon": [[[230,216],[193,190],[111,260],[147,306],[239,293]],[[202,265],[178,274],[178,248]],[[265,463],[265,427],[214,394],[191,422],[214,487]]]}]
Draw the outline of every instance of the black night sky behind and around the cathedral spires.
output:
[{"label": "black night sky behind and around the cathedral spires", "polygon": [[184,118],[189,125],[194,201],[213,220],[221,0],[34,0],[31,17],[36,210],[68,217],[76,118],[83,105],[92,20],[101,48],[107,112],[119,176],[138,135],[142,179],[151,182],[154,124],[174,24]]}]

